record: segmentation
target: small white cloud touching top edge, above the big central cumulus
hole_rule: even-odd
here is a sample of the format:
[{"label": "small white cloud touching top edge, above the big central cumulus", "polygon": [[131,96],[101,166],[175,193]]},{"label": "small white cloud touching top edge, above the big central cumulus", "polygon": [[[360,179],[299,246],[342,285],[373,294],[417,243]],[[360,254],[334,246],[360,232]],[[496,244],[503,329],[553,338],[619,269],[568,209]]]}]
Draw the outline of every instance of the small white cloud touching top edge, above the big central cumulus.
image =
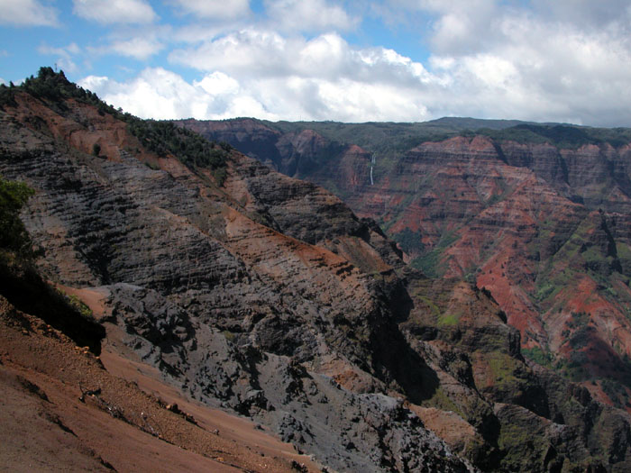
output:
[{"label": "small white cloud touching top edge, above the big central cumulus", "polygon": [[264,4],[274,26],[283,31],[345,31],[360,21],[325,0],[266,0]]}]

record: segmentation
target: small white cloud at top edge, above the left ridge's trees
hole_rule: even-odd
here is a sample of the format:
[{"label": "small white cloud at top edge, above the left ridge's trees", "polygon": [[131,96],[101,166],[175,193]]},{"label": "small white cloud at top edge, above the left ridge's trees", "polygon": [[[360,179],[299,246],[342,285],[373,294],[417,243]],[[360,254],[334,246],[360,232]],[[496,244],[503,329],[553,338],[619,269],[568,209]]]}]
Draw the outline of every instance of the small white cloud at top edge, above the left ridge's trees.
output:
[{"label": "small white cloud at top edge, above the left ridge's trees", "polygon": [[97,23],[151,23],[157,15],[145,0],[73,0],[72,12]]}]

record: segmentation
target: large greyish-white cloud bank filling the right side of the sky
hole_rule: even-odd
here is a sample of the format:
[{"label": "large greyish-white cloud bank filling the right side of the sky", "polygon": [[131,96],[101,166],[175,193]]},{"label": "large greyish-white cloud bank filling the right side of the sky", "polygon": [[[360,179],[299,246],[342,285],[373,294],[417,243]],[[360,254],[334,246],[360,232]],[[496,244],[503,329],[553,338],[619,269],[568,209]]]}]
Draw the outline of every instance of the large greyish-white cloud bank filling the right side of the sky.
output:
[{"label": "large greyish-white cloud bank filling the right side of the sky", "polygon": [[631,125],[624,0],[386,0],[373,11],[427,25],[426,67],[449,84],[432,114]]}]

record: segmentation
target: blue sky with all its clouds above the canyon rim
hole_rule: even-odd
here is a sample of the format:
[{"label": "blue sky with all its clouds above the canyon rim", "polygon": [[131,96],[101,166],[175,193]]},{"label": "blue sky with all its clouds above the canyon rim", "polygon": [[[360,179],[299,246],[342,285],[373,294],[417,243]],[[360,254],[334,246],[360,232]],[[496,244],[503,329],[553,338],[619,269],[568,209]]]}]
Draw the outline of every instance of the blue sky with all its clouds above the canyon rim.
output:
[{"label": "blue sky with all its clouds above the canyon rim", "polygon": [[631,126],[629,0],[0,0],[41,66],[142,118]]}]

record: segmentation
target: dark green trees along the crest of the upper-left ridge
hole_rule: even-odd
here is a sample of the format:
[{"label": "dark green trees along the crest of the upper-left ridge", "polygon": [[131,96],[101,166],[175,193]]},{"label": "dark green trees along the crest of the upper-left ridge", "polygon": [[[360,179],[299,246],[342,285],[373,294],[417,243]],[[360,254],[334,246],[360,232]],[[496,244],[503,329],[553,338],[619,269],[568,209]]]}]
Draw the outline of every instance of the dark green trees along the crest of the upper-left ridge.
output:
[{"label": "dark green trees along the crest of the upper-left ridge", "polygon": [[[96,94],[69,82],[63,71],[52,68],[40,68],[37,77],[28,77],[21,86],[0,86],[0,106],[15,105],[15,91],[48,100],[54,110],[60,114],[68,112],[64,99],[73,98],[78,102],[96,106],[101,115],[110,114],[117,120],[127,123],[133,133],[147,150],[159,156],[173,155],[189,168],[210,168],[221,186],[226,176],[226,159],[232,147],[227,143],[207,141],[196,132],[179,128],[170,122],[142,120],[132,114],[125,114],[112,105],[107,105]],[[95,144],[93,154],[98,156],[101,147]]]}]

